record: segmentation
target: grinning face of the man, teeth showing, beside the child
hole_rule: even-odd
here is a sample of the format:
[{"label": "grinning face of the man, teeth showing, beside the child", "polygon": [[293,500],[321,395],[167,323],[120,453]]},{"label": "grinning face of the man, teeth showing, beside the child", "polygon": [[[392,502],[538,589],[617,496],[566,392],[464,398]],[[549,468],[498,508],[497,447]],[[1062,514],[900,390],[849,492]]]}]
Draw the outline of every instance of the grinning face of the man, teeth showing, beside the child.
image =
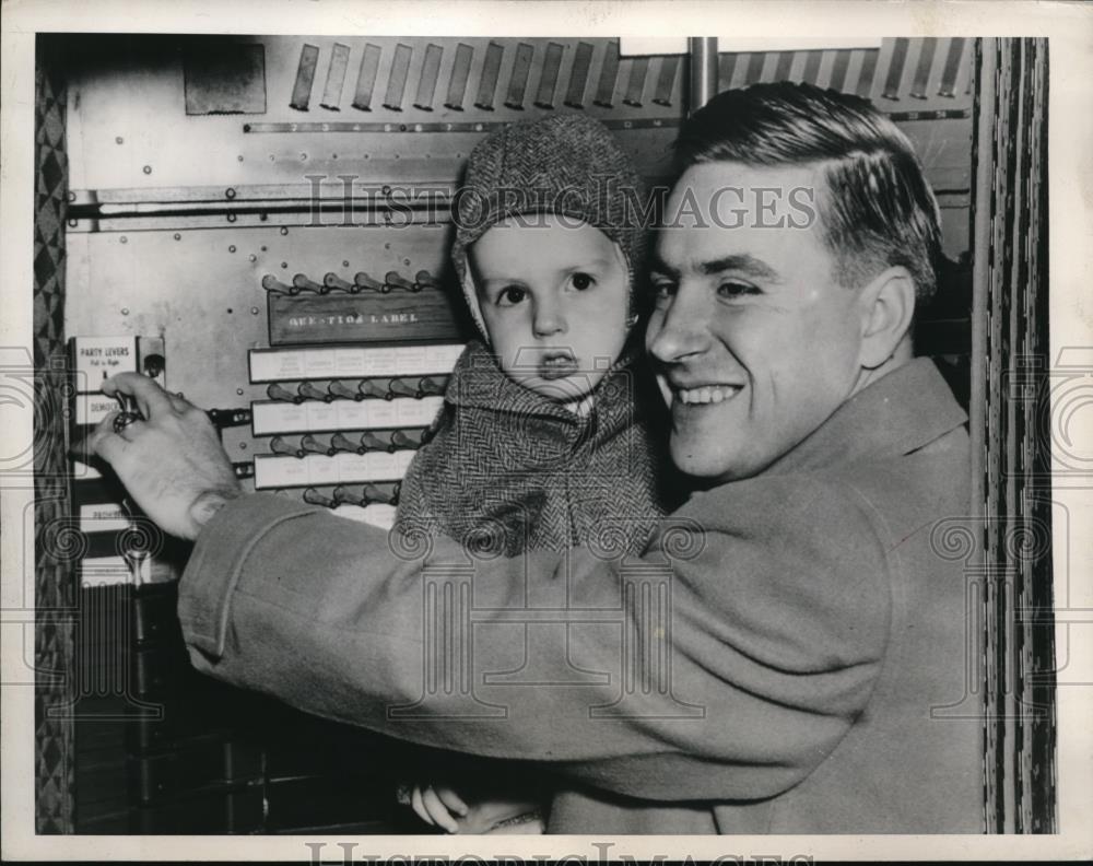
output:
[{"label": "grinning face of the man, teeth showing, beside the child", "polygon": [[[809,194],[790,199],[815,190],[818,208],[822,183],[811,167],[722,162],[691,167],[672,190],[646,346],[671,407],[672,459],[690,475],[762,471],[855,389],[859,292],[837,284],[818,221],[791,203]],[[730,187],[742,195],[716,195]]]}]

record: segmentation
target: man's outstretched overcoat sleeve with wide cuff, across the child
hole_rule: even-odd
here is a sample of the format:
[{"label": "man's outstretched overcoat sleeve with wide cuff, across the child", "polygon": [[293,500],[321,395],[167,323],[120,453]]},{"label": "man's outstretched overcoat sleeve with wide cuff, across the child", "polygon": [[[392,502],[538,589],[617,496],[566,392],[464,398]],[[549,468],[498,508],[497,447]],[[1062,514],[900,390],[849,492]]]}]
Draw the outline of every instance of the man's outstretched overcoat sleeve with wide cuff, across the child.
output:
[{"label": "man's outstretched overcoat sleeve with wide cuff, across the child", "polygon": [[612,561],[411,549],[244,498],[205,527],[181,578],[190,657],[321,716],[549,761],[623,794],[773,796],[868,702],[888,641],[886,543],[835,483],[730,488],[666,518],[640,559]]}]

